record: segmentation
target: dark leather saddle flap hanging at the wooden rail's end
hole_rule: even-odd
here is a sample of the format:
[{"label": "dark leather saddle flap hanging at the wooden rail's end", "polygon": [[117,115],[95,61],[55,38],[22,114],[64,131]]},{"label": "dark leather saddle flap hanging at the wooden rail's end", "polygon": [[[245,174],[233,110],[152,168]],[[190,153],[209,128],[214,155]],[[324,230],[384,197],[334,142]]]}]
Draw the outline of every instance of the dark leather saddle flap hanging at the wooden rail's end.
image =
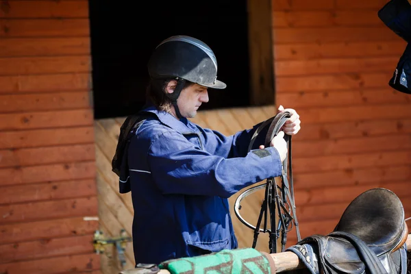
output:
[{"label": "dark leather saddle flap hanging at the wooden rail's end", "polygon": [[325,264],[340,273],[364,273],[365,264],[356,249],[343,238],[327,237],[323,258]]}]

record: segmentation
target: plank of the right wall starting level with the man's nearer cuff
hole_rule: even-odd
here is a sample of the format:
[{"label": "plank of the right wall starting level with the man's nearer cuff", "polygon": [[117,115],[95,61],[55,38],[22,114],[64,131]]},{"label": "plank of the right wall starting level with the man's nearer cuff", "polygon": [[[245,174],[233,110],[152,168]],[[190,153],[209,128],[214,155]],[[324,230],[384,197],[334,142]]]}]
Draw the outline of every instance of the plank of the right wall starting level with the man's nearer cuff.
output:
[{"label": "plank of the right wall starting level with the man's nearer cuff", "polygon": [[[325,155],[309,158],[293,158],[293,171],[299,173],[324,173],[325,171],[349,171],[353,169],[390,167],[411,164],[411,150],[377,151],[356,154]],[[326,175],[325,175],[326,176]],[[305,179],[307,180],[307,179]],[[300,181],[304,182],[303,179]],[[301,186],[302,187],[302,186]]]}]

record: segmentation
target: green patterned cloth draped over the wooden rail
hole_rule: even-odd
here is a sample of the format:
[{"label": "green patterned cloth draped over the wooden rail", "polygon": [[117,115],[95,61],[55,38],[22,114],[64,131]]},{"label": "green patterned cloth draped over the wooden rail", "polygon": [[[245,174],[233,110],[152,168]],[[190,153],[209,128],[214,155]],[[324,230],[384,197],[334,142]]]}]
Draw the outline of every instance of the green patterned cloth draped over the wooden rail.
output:
[{"label": "green patterned cloth draped over the wooden rail", "polygon": [[262,253],[253,248],[222,250],[208,255],[179,258],[162,262],[160,269],[172,274],[274,274],[270,262]]}]

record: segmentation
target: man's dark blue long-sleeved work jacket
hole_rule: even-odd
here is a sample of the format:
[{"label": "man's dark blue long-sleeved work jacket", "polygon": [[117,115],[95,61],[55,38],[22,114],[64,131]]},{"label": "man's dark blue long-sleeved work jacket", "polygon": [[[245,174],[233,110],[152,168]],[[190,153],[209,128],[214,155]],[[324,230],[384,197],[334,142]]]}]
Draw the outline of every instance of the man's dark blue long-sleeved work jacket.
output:
[{"label": "man's dark blue long-sleeved work jacket", "polygon": [[136,264],[238,247],[227,198],[282,171],[273,147],[247,153],[260,124],[223,136],[153,107],[145,111],[156,117],[132,132],[129,172],[120,182],[132,191]]}]

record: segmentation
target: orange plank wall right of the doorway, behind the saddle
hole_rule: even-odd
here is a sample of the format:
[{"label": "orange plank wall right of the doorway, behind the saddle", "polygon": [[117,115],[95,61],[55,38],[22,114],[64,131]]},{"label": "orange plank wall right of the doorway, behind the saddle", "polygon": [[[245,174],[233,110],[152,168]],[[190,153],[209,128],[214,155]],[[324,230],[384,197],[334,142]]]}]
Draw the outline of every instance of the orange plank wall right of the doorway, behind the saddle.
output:
[{"label": "orange plank wall right of the doorway, behind the saddle", "polygon": [[276,102],[303,123],[292,151],[303,236],[330,232],[369,188],[411,214],[411,97],[388,86],[406,42],[377,17],[386,2],[273,0]]}]

